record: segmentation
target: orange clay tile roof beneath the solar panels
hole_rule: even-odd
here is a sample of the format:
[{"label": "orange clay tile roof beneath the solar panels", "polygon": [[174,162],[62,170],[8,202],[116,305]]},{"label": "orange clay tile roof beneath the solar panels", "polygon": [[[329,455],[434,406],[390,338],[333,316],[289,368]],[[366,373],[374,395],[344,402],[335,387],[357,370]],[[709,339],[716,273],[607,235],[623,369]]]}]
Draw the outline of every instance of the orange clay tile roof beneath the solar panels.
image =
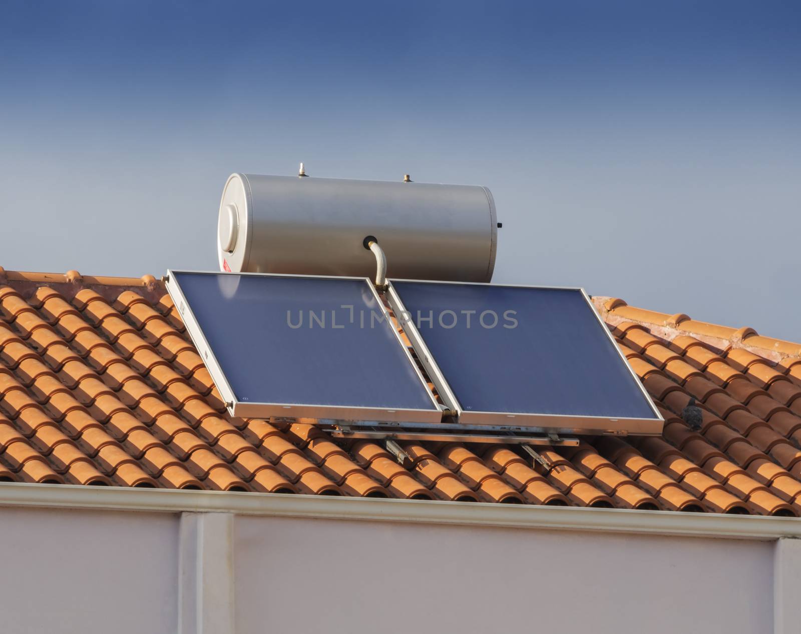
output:
[{"label": "orange clay tile roof beneath the solar panels", "polygon": [[[594,304],[666,419],[661,438],[543,447],[332,439],[227,414],[163,284],[0,268],[0,481],[801,512],[801,345]],[[697,399],[702,427],[678,415]]]}]

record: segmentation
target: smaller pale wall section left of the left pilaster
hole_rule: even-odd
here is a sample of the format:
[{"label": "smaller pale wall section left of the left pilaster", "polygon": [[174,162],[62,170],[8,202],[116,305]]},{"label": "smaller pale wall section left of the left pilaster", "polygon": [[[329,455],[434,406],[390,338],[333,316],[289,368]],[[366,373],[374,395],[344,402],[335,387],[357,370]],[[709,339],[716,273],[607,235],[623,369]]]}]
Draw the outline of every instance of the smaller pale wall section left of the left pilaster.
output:
[{"label": "smaller pale wall section left of the left pilaster", "polygon": [[178,516],[0,508],[0,631],[175,632]]}]

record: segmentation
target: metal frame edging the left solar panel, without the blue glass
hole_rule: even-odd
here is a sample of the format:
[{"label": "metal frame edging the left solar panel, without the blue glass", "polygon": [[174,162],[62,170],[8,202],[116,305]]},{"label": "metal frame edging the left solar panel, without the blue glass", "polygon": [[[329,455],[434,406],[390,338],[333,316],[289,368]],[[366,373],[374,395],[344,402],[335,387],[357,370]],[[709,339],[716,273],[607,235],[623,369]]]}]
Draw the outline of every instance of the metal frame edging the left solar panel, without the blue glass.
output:
[{"label": "metal frame edging the left solar panel, without the blue glass", "polygon": [[[402,351],[405,360],[409,363],[409,367],[413,370],[417,378],[421,390],[426,395],[427,404],[430,408],[405,408],[405,407],[364,407],[359,405],[330,405],[321,403],[280,403],[280,402],[255,402],[244,401],[237,398],[235,390],[231,387],[223,364],[220,363],[217,355],[215,355],[214,348],[209,343],[207,336],[204,334],[203,327],[199,323],[199,319],[191,308],[191,303],[188,301],[184,294],[179,282],[179,275],[231,275],[240,277],[255,276],[260,278],[282,278],[282,279],[318,279],[318,280],[351,280],[363,282],[372,294],[375,300],[375,306],[379,309],[381,315],[384,316],[386,327],[392,331],[392,336],[398,347]],[[433,424],[439,423],[442,418],[441,406],[434,399],[433,394],[429,390],[423,375],[414,362],[412,355],[409,354],[405,343],[400,338],[400,334],[396,328],[392,326],[389,319],[388,311],[381,301],[380,296],[377,294],[375,287],[367,278],[361,277],[334,277],[325,275],[291,275],[291,274],[266,274],[266,273],[216,273],[208,271],[167,271],[166,279],[167,291],[175,302],[178,308],[181,319],[187,327],[187,331],[191,335],[192,341],[195,343],[203,363],[205,363],[211,379],[213,379],[215,386],[219,389],[220,395],[223,397],[227,410],[231,415],[240,417],[252,418],[269,418],[281,417],[292,419],[309,419],[310,422],[316,420],[357,420],[357,421],[370,421],[372,424],[381,423],[397,423],[409,422],[417,424]],[[369,354],[369,348],[365,348],[365,354]],[[391,388],[392,386],[388,386]]]}]

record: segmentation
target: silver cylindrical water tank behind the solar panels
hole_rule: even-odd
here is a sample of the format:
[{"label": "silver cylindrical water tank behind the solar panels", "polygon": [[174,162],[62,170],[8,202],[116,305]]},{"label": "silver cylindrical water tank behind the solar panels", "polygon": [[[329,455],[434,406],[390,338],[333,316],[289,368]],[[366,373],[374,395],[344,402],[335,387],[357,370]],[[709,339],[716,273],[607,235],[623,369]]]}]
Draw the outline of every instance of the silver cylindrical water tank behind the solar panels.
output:
[{"label": "silver cylindrical water tank behind the solar panels", "polygon": [[223,271],[489,282],[497,219],[486,187],[233,174],[219,205]]}]

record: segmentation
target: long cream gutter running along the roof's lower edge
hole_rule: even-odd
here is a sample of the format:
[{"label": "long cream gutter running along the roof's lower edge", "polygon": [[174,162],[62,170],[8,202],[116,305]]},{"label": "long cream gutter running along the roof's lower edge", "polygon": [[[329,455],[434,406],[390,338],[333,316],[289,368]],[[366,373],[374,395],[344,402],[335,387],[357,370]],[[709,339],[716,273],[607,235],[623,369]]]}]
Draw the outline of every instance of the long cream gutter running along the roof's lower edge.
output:
[{"label": "long cream gutter running along the roof's lower edge", "polygon": [[63,484],[0,483],[0,507],[226,512],[317,520],[413,522],[743,540],[801,537],[801,519],[792,517]]}]

